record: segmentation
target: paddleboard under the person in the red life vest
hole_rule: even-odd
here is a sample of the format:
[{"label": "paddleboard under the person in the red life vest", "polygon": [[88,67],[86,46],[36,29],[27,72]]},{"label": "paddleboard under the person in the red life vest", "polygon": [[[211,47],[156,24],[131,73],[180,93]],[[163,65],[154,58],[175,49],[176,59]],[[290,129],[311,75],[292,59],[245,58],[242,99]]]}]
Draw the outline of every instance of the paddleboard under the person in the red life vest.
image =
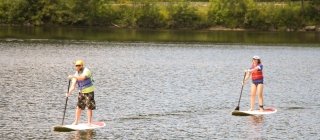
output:
[{"label": "paddleboard under the person in the red life vest", "polygon": [[239,111],[235,110],[232,112],[232,115],[234,116],[250,116],[250,115],[267,115],[267,114],[273,114],[276,113],[277,109],[274,107],[267,107],[262,112],[259,110],[253,110],[253,111]]}]

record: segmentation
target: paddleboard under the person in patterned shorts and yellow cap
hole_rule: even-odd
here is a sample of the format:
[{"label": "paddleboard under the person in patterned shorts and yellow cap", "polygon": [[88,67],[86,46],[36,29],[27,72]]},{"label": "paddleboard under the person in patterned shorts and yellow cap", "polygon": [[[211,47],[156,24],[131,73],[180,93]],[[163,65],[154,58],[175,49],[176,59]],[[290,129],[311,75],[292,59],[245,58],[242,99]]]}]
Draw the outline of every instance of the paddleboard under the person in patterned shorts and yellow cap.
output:
[{"label": "paddleboard under the person in patterned shorts and yellow cap", "polygon": [[87,123],[80,123],[77,125],[58,125],[54,126],[53,130],[59,132],[69,132],[77,130],[97,129],[105,126],[106,124],[104,122],[93,122],[91,125],[88,125]]}]

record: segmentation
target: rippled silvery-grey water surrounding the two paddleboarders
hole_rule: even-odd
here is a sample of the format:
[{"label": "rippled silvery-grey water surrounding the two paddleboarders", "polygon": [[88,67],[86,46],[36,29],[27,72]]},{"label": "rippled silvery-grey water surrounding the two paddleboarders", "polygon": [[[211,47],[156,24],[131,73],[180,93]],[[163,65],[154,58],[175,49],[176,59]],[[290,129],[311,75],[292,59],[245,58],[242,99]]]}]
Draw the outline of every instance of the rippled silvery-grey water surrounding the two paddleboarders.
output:
[{"label": "rippled silvery-grey water surrounding the two paddleboarders", "polygon": [[[1,139],[319,139],[320,48],[214,44],[2,42]],[[260,55],[265,106],[276,114],[232,116],[251,57]],[[72,62],[92,70],[107,126],[54,132]],[[244,87],[240,109],[249,108]],[[74,119],[76,94],[65,123]],[[82,114],[86,121],[86,112]]]}]

